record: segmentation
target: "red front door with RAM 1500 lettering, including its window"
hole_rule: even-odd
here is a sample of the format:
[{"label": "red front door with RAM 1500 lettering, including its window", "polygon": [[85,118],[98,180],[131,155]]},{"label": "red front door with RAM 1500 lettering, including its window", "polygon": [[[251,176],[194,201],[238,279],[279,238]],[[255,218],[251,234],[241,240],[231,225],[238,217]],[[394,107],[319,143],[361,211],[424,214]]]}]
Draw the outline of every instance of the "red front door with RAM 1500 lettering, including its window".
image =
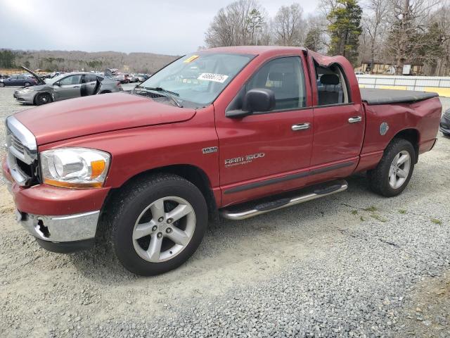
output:
[{"label": "red front door with RAM 1500 lettering, including its window", "polygon": [[[215,106],[219,137],[222,206],[275,194],[306,182],[311,158],[313,110],[304,56],[286,56],[263,63],[243,84],[228,106]],[[227,118],[242,108],[250,89],[271,89],[274,111]]]}]

